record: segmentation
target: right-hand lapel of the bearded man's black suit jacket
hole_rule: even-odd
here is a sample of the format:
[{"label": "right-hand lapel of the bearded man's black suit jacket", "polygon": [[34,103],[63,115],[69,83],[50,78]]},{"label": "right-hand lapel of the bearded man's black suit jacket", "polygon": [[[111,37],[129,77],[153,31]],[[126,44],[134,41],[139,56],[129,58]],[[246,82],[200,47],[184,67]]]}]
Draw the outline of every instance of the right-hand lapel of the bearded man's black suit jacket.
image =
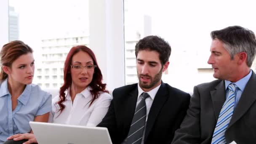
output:
[{"label": "right-hand lapel of the bearded man's black suit jacket", "polygon": [[152,106],[149,110],[144,142],[147,140],[147,137],[149,136],[149,133],[155,123],[158,113],[160,112],[161,108],[163,107],[165,101],[168,99],[167,94],[168,94],[168,91],[165,88],[165,84],[162,82],[159,90],[157,91],[157,93],[155,95],[155,99],[152,103]]}]

